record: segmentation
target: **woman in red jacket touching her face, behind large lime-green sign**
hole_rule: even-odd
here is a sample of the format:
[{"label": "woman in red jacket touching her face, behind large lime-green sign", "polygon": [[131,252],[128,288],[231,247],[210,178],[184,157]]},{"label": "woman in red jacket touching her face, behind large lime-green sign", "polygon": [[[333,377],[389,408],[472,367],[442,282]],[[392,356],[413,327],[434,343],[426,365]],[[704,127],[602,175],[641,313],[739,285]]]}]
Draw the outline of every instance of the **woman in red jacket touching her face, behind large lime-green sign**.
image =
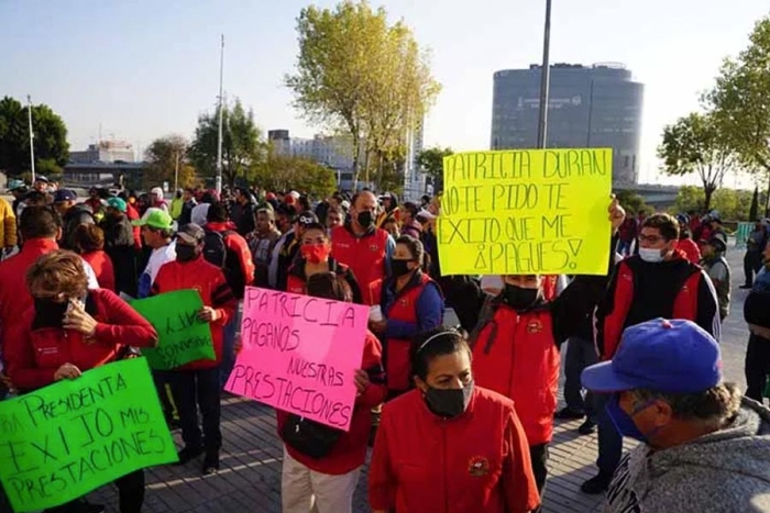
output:
[{"label": "woman in red jacket touching her face, behind large lime-green sign", "polygon": [[[28,271],[26,283],[34,310],[3,337],[8,377],[20,391],[76,379],[89,369],[120,359],[129,346],[152,347],[157,343],[152,324],[123,300],[106,289],[88,290],[82,260],[74,253],[43,255]],[[125,475],[116,484],[121,513],[141,512],[144,471]],[[59,508],[98,508],[84,502]]]}]

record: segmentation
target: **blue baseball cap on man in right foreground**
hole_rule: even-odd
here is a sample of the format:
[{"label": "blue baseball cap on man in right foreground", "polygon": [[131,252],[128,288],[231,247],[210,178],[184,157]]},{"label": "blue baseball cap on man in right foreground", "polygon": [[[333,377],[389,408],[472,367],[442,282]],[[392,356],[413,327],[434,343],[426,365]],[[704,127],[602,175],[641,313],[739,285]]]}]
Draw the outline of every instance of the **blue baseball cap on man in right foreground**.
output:
[{"label": "blue baseball cap on man in right foreground", "polygon": [[702,392],[722,382],[719,345],[692,321],[654,319],[628,327],[615,357],[587,367],[581,381],[600,393]]}]

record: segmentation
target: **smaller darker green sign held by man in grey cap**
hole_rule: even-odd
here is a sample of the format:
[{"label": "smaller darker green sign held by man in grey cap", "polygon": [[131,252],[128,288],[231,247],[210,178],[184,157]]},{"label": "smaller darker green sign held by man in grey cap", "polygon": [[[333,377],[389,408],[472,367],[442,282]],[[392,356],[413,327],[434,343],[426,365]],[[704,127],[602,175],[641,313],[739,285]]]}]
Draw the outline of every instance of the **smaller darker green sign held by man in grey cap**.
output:
[{"label": "smaller darker green sign held by man in grey cap", "polygon": [[197,290],[176,290],[131,302],[157,331],[155,348],[142,348],[150,367],[175,369],[195,360],[213,360],[211,326],[198,320],[204,301]]}]

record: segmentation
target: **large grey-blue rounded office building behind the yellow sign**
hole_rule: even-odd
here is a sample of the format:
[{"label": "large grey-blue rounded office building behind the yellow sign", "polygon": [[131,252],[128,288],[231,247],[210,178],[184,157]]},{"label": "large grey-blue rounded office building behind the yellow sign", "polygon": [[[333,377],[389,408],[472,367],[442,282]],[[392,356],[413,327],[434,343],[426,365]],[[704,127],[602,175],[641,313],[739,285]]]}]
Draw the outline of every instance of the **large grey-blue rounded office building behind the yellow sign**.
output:
[{"label": "large grey-blue rounded office building behind the yellow sign", "polygon": [[[495,73],[492,149],[537,147],[541,70]],[[610,147],[613,183],[637,183],[644,92],[623,65],[551,66],[547,146]]]}]

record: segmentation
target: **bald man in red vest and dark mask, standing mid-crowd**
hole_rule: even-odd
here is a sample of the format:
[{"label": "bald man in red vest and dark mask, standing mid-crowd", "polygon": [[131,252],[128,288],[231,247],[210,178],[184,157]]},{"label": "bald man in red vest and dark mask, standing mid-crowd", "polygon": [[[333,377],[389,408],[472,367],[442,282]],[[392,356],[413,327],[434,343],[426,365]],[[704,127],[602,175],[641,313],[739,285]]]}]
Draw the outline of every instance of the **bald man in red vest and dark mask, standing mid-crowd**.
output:
[{"label": "bald man in red vest and dark mask, standing mid-crowd", "polygon": [[[353,196],[350,222],[331,231],[331,256],[350,267],[364,292],[391,274],[391,257],[396,243],[382,228],[375,227],[377,198],[370,191]],[[375,304],[364,293],[364,303]]]}]

